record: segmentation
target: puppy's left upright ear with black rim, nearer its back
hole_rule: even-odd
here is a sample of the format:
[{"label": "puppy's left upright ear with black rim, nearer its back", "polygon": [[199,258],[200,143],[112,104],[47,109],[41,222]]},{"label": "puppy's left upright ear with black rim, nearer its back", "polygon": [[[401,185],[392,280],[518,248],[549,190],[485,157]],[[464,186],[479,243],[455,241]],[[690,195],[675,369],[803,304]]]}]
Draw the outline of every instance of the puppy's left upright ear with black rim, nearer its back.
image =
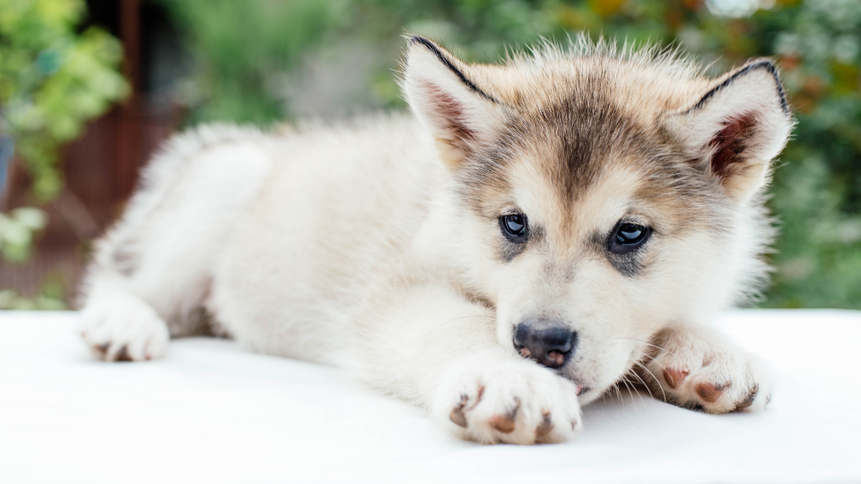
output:
[{"label": "puppy's left upright ear with black rim, nearer its back", "polygon": [[413,112],[431,131],[439,158],[457,169],[491,141],[502,107],[476,84],[480,67],[465,65],[431,40],[410,36],[402,88]]}]

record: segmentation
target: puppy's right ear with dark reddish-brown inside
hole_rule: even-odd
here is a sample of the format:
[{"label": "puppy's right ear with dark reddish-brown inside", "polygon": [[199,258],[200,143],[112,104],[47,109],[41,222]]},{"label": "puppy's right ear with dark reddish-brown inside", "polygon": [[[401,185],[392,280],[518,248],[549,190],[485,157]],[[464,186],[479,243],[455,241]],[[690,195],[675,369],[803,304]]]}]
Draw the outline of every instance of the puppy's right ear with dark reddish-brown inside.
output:
[{"label": "puppy's right ear with dark reddish-brown inside", "polygon": [[768,182],[793,120],[777,69],[757,59],[718,79],[666,126],[707,176],[744,200]]}]

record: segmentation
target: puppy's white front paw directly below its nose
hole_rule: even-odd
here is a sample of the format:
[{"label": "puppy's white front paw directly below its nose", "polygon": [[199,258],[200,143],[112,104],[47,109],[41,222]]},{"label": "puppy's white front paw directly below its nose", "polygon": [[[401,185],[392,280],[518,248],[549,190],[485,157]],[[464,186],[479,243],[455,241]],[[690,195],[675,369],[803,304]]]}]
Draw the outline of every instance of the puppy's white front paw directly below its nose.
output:
[{"label": "puppy's white front paw directly below its nose", "polygon": [[434,415],[483,444],[564,442],[582,428],[570,381],[529,361],[477,361],[442,379]]}]

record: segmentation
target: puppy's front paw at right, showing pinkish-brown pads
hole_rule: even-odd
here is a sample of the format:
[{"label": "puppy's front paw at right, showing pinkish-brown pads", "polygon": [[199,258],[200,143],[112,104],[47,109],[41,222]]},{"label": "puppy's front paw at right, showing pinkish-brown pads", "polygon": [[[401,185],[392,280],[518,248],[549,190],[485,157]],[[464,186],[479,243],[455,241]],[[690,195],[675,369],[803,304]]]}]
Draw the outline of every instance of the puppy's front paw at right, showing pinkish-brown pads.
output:
[{"label": "puppy's front paw at right, showing pinkish-brown pads", "polygon": [[639,368],[654,397],[709,413],[761,411],[770,402],[765,365],[723,334],[679,325],[654,341],[657,354]]}]

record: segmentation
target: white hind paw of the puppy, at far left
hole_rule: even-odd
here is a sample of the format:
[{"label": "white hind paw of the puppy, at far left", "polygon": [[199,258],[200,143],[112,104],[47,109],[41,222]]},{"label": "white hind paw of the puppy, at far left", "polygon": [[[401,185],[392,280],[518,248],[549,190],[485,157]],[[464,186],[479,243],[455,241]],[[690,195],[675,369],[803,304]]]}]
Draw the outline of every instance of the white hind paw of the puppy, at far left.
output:
[{"label": "white hind paw of the puppy, at far left", "polygon": [[158,359],[170,341],[168,326],[155,310],[125,294],[91,298],[83,307],[78,332],[93,355],[105,361]]}]

